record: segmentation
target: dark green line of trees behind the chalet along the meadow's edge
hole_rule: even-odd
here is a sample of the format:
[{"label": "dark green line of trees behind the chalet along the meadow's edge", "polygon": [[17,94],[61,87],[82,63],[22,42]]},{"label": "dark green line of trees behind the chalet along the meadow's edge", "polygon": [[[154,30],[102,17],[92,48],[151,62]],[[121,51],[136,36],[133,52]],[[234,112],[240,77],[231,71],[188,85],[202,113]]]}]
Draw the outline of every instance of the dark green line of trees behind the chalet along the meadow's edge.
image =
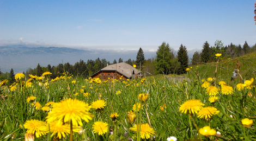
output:
[{"label": "dark green line of trees behind the chalet along the meadow's edge", "polygon": [[[242,56],[247,53],[253,52],[256,50],[256,44],[253,47],[249,47],[247,42],[241,46],[240,44],[236,46],[233,43],[230,43],[228,46],[223,46],[221,40],[217,40],[214,43],[214,46],[206,41],[203,44],[201,52],[194,52],[191,61],[189,61],[187,48],[183,44],[180,45],[178,52],[176,53],[173,48],[170,48],[169,44],[163,42],[161,46],[158,47],[156,52],[156,57],[145,60],[144,52],[142,48],[139,48],[136,56],[136,60],[128,59],[123,61],[119,58],[114,60],[112,63],[106,59],[100,59],[99,57],[96,60],[87,60],[84,62],[80,60],[76,62],[75,65],[71,65],[69,62],[59,63],[57,66],[51,66],[50,64],[47,67],[41,67],[38,63],[36,68],[29,68],[24,74],[32,74],[41,76],[44,72],[51,72],[50,77],[52,79],[57,76],[65,73],[70,73],[74,76],[81,76],[83,78],[88,78],[90,75],[93,75],[100,69],[111,65],[114,63],[125,62],[129,65],[136,65],[138,70],[141,70],[145,75],[155,75],[155,74],[183,74],[186,72],[186,68],[190,65],[197,65],[198,63],[206,63],[216,61],[215,54],[221,53],[222,57],[237,57]],[[11,68],[10,72],[2,73],[0,68],[0,80],[7,79],[9,84],[15,81],[14,79],[14,70]]]}]

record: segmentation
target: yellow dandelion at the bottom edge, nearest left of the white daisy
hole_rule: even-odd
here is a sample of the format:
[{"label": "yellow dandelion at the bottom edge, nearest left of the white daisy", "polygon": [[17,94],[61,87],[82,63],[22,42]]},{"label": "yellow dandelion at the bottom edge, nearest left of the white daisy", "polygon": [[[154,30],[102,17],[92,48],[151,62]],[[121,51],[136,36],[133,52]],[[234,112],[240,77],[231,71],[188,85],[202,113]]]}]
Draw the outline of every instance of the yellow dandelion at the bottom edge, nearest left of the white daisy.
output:
[{"label": "yellow dandelion at the bottom edge, nearest left of the white daisy", "polygon": [[132,131],[139,131],[139,126],[141,126],[141,131],[139,132],[139,134],[141,134],[141,138],[142,139],[148,139],[150,138],[150,136],[153,136],[153,134],[155,133],[154,129],[151,128],[147,123],[146,124],[139,124],[137,126],[137,124],[135,124],[133,127],[130,127],[130,130]]}]

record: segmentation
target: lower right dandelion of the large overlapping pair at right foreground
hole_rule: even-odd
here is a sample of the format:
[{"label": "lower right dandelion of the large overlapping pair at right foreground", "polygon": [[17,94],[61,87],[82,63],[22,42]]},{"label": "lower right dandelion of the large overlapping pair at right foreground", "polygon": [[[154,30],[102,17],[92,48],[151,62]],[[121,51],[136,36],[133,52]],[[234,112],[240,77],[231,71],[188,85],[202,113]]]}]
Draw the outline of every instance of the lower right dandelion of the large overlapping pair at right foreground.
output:
[{"label": "lower right dandelion of the large overlapping pair at right foreground", "polygon": [[197,113],[197,117],[198,118],[211,118],[212,115],[218,114],[220,113],[220,111],[217,110],[217,108],[215,107],[203,107],[198,113]]}]

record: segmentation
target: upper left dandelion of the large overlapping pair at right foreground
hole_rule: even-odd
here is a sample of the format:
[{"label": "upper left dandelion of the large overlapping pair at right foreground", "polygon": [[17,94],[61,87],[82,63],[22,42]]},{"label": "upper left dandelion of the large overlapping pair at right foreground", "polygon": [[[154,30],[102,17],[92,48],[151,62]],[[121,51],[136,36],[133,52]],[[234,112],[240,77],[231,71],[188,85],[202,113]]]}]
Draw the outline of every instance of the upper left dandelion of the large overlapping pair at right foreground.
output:
[{"label": "upper left dandelion of the large overlapping pair at right foreground", "polygon": [[191,99],[185,101],[182,105],[180,105],[179,111],[181,113],[187,113],[187,111],[194,113],[198,113],[198,111],[203,108],[204,104],[197,99]]}]

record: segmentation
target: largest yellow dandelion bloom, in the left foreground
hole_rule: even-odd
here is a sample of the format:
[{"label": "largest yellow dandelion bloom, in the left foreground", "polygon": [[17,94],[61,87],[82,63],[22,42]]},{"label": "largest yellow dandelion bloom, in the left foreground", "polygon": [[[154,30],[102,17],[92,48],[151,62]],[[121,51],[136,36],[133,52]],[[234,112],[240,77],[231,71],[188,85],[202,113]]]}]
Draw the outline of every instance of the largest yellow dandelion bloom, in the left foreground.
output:
[{"label": "largest yellow dandelion bloom, in the left foreground", "polygon": [[46,117],[46,121],[51,123],[54,120],[62,120],[64,123],[71,123],[74,126],[82,126],[81,121],[84,120],[87,123],[92,120],[94,115],[89,113],[92,106],[89,106],[86,102],[77,99],[64,99],[60,102],[56,102],[52,105],[52,111]]}]

